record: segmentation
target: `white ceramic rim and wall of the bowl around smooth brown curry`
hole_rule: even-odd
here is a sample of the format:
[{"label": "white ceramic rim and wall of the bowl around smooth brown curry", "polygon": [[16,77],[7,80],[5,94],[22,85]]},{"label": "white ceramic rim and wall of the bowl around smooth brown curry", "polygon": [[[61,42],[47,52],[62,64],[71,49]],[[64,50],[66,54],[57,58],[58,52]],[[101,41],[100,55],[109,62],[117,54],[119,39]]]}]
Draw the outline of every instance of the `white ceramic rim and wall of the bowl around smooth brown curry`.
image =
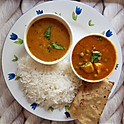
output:
[{"label": "white ceramic rim and wall of the bowl around smooth brown curry", "polygon": [[[31,25],[33,25],[36,21],[40,20],[40,19],[44,19],[44,18],[52,18],[52,19],[55,19],[55,20],[58,20],[59,22],[61,22],[65,27],[66,29],[68,30],[69,32],[69,36],[70,36],[70,45],[69,45],[69,48],[67,50],[67,52],[64,54],[64,56],[62,56],[60,59],[57,59],[55,61],[43,61],[39,58],[37,58],[35,55],[33,55],[31,53],[31,51],[29,50],[29,47],[28,47],[28,44],[27,44],[27,33],[28,33],[28,30],[29,28],[31,27]],[[33,34],[32,34],[33,35]],[[64,36],[63,36],[64,37]],[[72,36],[72,29],[71,29],[71,26],[69,25],[69,23],[60,15],[57,15],[57,14],[54,14],[54,13],[44,13],[42,15],[39,15],[39,16],[36,16],[34,17],[33,19],[31,19],[27,26],[26,26],[26,29],[25,29],[25,32],[24,32],[24,46],[25,46],[25,49],[27,51],[27,53],[37,62],[41,63],[41,64],[46,64],[46,65],[52,65],[52,64],[56,64],[60,61],[62,61],[68,54],[69,54],[69,51],[71,50],[71,47],[72,47],[72,42],[73,42],[73,36]],[[42,54],[42,53],[41,53]]]}]

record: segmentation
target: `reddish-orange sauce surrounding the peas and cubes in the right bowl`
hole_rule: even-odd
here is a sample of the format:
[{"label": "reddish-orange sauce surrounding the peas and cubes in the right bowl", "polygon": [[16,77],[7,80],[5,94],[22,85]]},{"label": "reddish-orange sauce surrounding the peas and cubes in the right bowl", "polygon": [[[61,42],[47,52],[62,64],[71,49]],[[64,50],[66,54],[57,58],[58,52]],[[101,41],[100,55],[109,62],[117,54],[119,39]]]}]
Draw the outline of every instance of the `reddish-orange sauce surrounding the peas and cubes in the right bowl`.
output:
[{"label": "reddish-orange sauce surrounding the peas and cubes in the right bowl", "polygon": [[[97,35],[91,35],[81,39],[74,47],[72,53],[72,64],[75,71],[88,80],[99,80],[108,76],[116,64],[117,56],[115,47],[106,38],[101,37],[101,40],[99,38]],[[85,66],[87,62],[91,62],[93,51],[100,52],[101,59],[97,63],[100,63],[102,68],[100,68],[99,73],[95,68],[93,72],[86,73],[81,66]],[[83,53],[82,57],[80,53]],[[94,63],[92,65],[94,66]]]}]

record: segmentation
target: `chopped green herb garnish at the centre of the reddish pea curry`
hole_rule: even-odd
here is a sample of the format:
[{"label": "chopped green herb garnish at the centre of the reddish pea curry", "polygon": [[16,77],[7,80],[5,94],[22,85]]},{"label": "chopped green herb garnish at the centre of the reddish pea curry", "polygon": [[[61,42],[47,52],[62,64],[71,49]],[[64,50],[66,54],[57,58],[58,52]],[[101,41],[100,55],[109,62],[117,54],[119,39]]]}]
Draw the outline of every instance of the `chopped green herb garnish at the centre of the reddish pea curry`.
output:
[{"label": "chopped green herb garnish at the centre of the reddish pea curry", "polygon": [[101,55],[102,54],[99,51],[93,51],[91,56],[91,62],[96,63],[99,60],[101,60],[102,59]]}]

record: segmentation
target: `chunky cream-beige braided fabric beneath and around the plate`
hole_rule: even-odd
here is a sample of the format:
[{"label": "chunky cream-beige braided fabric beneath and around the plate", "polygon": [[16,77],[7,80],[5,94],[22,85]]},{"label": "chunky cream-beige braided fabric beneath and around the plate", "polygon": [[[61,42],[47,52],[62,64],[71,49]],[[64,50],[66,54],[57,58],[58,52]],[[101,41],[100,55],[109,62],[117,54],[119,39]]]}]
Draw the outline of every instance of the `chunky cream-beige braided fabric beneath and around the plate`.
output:
[{"label": "chunky cream-beige braided fabric beneath and around the plate", "polygon": [[[0,0],[0,50],[4,39],[15,21],[28,9],[47,0]],[[78,0],[102,13],[112,24],[121,44],[124,56],[124,1],[123,0]],[[0,52],[0,54],[1,54]],[[123,57],[124,58],[124,57]],[[1,66],[0,66],[1,68]],[[124,67],[115,94],[107,102],[100,124],[122,124],[124,98]],[[39,118],[23,109],[5,85],[0,71],[0,124],[80,124],[79,121],[55,122]]]}]

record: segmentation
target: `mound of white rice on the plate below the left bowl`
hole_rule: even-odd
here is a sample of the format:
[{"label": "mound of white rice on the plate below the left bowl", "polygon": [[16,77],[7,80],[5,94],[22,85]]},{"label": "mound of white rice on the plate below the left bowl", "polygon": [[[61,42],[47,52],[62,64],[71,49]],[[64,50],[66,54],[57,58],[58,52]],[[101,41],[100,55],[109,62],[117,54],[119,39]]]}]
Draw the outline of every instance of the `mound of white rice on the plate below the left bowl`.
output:
[{"label": "mound of white rice on the plate below the left bowl", "polygon": [[17,75],[29,102],[46,109],[70,104],[81,85],[68,60],[48,66],[25,56],[17,62]]}]

